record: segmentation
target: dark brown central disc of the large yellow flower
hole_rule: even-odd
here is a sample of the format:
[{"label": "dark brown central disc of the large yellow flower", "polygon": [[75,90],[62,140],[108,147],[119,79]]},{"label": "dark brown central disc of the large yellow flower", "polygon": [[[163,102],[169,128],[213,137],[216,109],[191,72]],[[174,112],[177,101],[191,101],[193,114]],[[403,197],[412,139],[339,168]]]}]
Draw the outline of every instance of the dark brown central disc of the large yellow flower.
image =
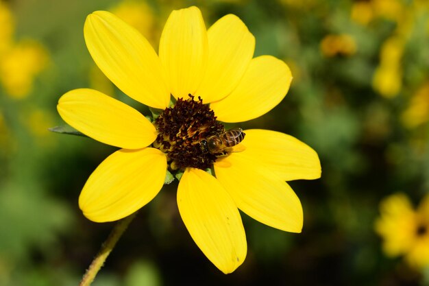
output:
[{"label": "dark brown central disc of the large yellow flower", "polygon": [[204,141],[225,132],[223,125],[216,121],[215,112],[204,105],[200,97],[195,100],[177,99],[175,105],[166,108],[155,120],[158,136],[154,147],[167,154],[172,170],[194,167],[212,167],[219,154],[208,152]]}]

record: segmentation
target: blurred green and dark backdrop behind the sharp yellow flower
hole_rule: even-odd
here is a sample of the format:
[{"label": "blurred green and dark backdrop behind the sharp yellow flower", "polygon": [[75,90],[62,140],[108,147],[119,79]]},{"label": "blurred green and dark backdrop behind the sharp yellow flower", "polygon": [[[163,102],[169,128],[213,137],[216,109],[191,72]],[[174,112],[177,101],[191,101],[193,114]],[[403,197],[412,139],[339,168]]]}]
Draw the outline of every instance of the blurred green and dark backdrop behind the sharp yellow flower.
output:
[{"label": "blurred green and dark backdrop behind the sharp yellow flower", "polygon": [[[291,90],[242,124],[313,147],[322,178],[294,181],[302,234],[242,214],[247,259],[224,275],[201,253],[177,211],[177,182],[145,206],[93,285],[429,285],[428,270],[387,258],[373,230],[380,200],[429,191],[429,1],[0,0],[0,285],[77,285],[114,223],[77,206],[86,179],[114,151],[47,130],[64,124],[59,97],[91,87],[143,107],[91,60],[86,15],[110,10],[158,47],[173,9],[198,5],[206,26],[239,16],[255,56],[281,58]],[[398,230],[400,231],[400,230]]]}]

